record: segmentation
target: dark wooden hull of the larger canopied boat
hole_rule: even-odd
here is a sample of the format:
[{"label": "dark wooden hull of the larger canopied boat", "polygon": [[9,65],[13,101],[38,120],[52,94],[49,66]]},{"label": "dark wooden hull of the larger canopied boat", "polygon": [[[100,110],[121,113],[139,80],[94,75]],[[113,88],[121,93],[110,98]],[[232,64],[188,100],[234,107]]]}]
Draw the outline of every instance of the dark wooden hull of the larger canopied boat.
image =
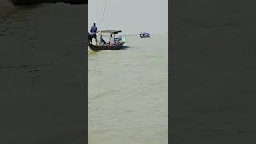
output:
[{"label": "dark wooden hull of the larger canopied boat", "polygon": [[119,50],[119,49],[122,49],[122,46],[125,44],[125,42],[118,42],[117,44],[114,44],[114,45],[98,45],[98,46],[95,46],[95,45],[92,45],[92,44],[89,44],[89,47],[90,47],[90,50],[93,50],[93,51],[99,51],[99,50]]}]

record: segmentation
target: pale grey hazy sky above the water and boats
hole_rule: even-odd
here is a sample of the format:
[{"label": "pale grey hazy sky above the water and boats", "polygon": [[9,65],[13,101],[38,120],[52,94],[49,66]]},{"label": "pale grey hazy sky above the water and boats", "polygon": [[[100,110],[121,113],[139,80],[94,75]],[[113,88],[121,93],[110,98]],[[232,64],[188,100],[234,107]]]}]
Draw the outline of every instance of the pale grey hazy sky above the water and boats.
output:
[{"label": "pale grey hazy sky above the water and boats", "polygon": [[[105,0],[89,0],[88,30],[102,25]],[[167,33],[168,0],[106,0],[102,30],[122,30],[122,34]]]}]

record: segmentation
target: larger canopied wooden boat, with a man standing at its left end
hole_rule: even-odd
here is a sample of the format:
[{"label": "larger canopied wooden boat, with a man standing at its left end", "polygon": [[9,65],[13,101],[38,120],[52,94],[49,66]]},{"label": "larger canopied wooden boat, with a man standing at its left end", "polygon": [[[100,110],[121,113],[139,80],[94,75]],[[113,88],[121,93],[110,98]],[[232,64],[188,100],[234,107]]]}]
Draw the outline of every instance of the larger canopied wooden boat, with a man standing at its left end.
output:
[{"label": "larger canopied wooden boat, with a man standing at its left end", "polygon": [[[98,51],[98,50],[119,50],[122,49],[123,45],[126,43],[126,39],[123,36],[119,36],[121,30],[104,30],[97,32],[97,37],[101,34],[102,36],[107,35],[109,41],[106,43],[94,43],[89,36],[89,44],[90,50]],[[97,40],[99,42],[99,40]]]}]

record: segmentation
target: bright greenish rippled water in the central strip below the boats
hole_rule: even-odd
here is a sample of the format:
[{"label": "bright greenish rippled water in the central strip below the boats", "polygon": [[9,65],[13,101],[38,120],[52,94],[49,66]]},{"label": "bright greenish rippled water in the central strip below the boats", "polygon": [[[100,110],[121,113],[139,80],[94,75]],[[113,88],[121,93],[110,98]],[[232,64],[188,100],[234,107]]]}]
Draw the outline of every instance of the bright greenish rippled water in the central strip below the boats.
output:
[{"label": "bright greenish rippled water in the central strip below the boats", "polygon": [[167,39],[132,36],[123,50],[89,50],[90,144],[168,142]]}]

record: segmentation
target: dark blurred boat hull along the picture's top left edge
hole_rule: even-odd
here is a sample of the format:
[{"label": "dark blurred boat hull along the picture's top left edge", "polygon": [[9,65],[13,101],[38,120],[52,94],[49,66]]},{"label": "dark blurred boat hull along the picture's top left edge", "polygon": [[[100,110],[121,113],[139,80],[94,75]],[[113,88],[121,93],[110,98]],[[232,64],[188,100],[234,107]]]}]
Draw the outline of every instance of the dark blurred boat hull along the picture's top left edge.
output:
[{"label": "dark blurred boat hull along the picture's top left edge", "polygon": [[88,4],[88,0],[9,0],[13,5],[31,5],[38,3],[70,3],[70,4]]}]

